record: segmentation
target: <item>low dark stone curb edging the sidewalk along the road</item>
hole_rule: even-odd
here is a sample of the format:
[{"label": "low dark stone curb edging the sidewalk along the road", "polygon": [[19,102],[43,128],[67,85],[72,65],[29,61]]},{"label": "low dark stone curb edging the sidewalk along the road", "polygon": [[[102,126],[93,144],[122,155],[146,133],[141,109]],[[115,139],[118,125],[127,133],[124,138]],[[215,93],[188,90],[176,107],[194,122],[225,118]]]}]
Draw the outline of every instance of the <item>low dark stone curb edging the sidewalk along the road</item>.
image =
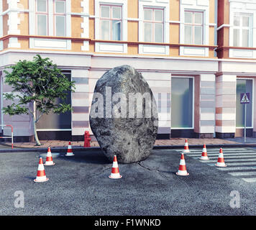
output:
[{"label": "low dark stone curb edging the sidewalk along the road", "polygon": [[[155,145],[153,149],[183,149],[184,145]],[[207,144],[207,148],[220,148],[220,147],[256,147],[256,144]],[[68,147],[52,147],[52,152],[66,152]],[[198,149],[202,148],[202,144],[190,144],[190,149]],[[72,149],[76,152],[87,152],[87,151],[99,151],[101,147],[72,147]],[[45,148],[28,148],[28,149],[0,149],[1,152],[46,152],[47,147]]]}]

